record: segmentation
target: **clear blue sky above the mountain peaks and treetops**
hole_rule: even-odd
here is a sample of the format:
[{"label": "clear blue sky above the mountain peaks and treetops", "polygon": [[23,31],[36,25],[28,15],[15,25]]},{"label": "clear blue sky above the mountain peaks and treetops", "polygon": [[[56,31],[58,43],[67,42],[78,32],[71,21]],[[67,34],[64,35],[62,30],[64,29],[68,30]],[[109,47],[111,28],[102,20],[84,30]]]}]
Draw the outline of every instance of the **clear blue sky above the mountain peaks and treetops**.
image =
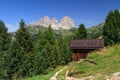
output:
[{"label": "clear blue sky above the mountain peaks and treetops", "polygon": [[120,0],[0,0],[0,20],[9,32],[19,27],[24,19],[26,24],[38,21],[41,17],[69,16],[76,26],[84,23],[86,27],[104,22],[110,10],[120,10]]}]

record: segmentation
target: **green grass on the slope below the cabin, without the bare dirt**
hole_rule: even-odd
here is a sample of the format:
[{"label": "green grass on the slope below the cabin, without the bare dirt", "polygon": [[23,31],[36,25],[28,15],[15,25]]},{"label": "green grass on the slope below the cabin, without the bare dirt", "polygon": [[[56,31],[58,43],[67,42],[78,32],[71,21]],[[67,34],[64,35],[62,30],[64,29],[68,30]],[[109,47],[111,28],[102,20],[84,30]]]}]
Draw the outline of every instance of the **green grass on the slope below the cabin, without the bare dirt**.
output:
[{"label": "green grass on the slope below the cabin, without the bare dirt", "polygon": [[100,74],[99,78],[104,79],[105,75],[120,71],[120,45],[92,52],[86,60],[80,63],[71,62],[68,65],[70,74],[77,78]]}]

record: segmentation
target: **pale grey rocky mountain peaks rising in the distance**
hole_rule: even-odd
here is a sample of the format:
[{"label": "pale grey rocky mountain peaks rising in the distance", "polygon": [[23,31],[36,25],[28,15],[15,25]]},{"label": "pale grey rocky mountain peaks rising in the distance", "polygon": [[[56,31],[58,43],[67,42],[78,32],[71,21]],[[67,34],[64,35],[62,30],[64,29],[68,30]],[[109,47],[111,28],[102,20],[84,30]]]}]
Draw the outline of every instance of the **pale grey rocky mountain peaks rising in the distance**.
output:
[{"label": "pale grey rocky mountain peaks rising in the distance", "polygon": [[49,25],[51,25],[53,29],[57,29],[57,30],[70,29],[75,27],[73,19],[71,19],[68,16],[64,16],[60,22],[58,22],[56,18],[50,19],[48,16],[45,16],[41,18],[39,21],[33,22],[30,25],[31,26],[38,25],[38,26],[44,26],[44,27],[48,27]]}]

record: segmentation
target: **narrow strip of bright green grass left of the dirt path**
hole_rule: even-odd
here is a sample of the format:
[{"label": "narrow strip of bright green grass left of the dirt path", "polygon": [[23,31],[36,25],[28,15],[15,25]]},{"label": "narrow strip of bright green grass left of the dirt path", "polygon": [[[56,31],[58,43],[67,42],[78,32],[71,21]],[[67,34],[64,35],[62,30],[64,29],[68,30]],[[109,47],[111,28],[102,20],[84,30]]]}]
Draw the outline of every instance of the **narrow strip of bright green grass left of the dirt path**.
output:
[{"label": "narrow strip of bright green grass left of the dirt path", "polygon": [[25,80],[49,80],[57,71],[59,71],[62,68],[63,66],[59,66],[56,69],[51,69],[50,72],[46,75],[33,76],[30,78],[26,78]]}]

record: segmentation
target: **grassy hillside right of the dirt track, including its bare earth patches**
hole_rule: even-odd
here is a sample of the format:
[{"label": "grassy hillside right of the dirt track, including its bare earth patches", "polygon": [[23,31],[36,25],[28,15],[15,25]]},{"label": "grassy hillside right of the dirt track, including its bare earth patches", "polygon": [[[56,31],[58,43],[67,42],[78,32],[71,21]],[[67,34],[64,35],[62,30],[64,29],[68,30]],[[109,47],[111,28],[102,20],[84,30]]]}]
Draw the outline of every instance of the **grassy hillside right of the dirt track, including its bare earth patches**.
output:
[{"label": "grassy hillside right of the dirt track, including its bare earth patches", "polygon": [[[66,71],[69,71],[67,77]],[[71,62],[57,80],[120,80],[120,45],[92,52],[87,59]]]}]

